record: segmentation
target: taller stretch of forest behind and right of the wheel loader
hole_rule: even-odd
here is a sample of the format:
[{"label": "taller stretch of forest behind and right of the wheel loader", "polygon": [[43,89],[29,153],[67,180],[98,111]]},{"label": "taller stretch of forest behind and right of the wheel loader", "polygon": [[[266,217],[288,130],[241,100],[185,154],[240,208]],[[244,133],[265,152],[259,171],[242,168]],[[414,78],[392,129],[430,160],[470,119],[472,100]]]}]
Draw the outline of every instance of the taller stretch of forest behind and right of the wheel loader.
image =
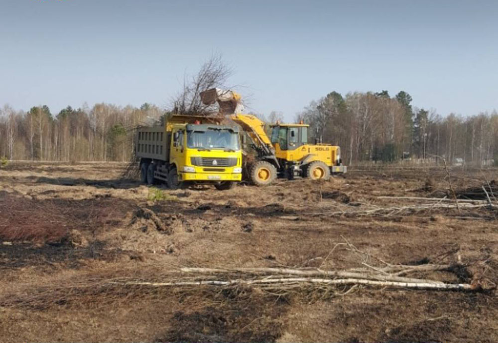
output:
[{"label": "taller stretch of forest behind and right of the wheel loader", "polygon": [[317,141],[339,145],[343,162],[417,161],[498,165],[498,113],[443,117],[412,107],[412,97],[331,92],[296,116]]}]

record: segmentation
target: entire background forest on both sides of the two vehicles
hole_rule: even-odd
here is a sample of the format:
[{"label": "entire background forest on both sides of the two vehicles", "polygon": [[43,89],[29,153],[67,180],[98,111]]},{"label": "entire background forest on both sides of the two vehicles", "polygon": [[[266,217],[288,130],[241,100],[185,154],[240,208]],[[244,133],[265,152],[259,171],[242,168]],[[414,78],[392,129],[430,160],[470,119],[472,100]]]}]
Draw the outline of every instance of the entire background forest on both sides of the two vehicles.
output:
[{"label": "entire background forest on both sides of the two vehicles", "polygon": [[[412,106],[401,91],[331,92],[296,116],[310,124],[311,140],[339,145],[343,162],[410,161],[486,166],[498,163],[498,113],[443,117]],[[176,111],[175,111],[176,112]],[[10,160],[129,161],[134,129],[165,114],[155,105],[68,106],[52,114],[47,106],[29,111],[0,109],[0,157]],[[282,120],[271,112],[269,123]]]}]

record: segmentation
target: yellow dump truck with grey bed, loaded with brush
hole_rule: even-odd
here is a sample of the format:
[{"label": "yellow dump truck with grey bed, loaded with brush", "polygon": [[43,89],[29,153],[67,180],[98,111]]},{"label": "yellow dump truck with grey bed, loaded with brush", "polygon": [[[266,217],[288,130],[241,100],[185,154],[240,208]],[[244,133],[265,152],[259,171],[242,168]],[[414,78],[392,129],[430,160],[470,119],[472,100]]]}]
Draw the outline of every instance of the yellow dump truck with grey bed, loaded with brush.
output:
[{"label": "yellow dump truck with grey bed, loaded with brush", "polygon": [[144,183],[162,181],[172,189],[210,183],[224,190],[242,179],[237,127],[207,117],[174,115],[164,125],[139,128],[136,135],[135,154]]}]

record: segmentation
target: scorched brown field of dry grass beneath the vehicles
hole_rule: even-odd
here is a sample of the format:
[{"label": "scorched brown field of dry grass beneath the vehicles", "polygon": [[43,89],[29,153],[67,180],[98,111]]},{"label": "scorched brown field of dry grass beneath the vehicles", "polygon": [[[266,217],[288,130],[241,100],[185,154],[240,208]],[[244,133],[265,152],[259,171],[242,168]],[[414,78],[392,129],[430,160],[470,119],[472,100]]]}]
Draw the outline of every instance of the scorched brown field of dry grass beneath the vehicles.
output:
[{"label": "scorched brown field of dry grass beneath the vehicles", "polygon": [[[498,342],[498,204],[479,192],[497,172],[351,168],[328,182],[170,191],[123,177],[124,164],[10,164],[1,341]],[[428,264],[449,267],[416,268]],[[182,267],[386,265],[474,290],[151,285],[192,278]]]}]

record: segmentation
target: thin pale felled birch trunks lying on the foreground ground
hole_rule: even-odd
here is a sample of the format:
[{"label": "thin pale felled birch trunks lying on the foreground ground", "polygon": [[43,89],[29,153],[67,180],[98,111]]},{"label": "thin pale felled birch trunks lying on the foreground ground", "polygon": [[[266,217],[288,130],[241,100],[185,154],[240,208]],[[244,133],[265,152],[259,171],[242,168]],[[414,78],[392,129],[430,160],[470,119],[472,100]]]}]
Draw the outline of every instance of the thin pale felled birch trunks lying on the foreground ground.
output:
[{"label": "thin pale felled birch trunks lying on the foreground ground", "polygon": [[[373,287],[476,291],[476,285],[444,283],[404,276],[412,272],[450,270],[450,265],[387,266],[351,270],[321,270],[319,268],[181,268],[194,279],[148,282],[127,281],[128,285],[162,286],[256,286],[267,290],[302,288],[303,286],[366,285]],[[204,277],[202,277],[204,276]]]}]

